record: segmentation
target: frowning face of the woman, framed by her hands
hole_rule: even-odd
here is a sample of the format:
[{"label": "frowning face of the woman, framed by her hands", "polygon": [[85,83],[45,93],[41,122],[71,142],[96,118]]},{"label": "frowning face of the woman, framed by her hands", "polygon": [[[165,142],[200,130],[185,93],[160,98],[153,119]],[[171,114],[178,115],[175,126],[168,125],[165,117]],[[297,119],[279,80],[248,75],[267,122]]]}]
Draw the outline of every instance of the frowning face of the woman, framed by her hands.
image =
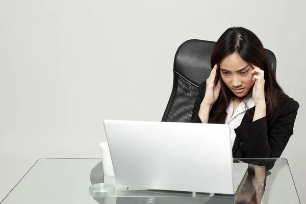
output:
[{"label": "frowning face of the woman, framed by her hands", "polygon": [[237,96],[243,97],[253,88],[254,69],[251,64],[244,61],[239,54],[226,56],[220,62],[220,74],[226,86]]}]

